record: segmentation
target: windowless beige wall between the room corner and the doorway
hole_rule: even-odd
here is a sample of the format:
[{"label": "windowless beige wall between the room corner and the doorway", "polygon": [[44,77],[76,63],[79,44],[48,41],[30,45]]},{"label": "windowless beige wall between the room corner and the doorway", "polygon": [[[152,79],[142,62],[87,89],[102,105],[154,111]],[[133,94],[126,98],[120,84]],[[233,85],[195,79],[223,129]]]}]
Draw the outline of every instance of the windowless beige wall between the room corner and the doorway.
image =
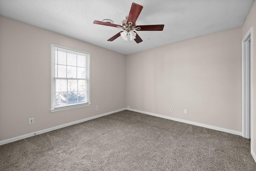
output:
[{"label": "windowless beige wall between the room corner and the doorway", "polygon": [[126,105],[241,132],[241,33],[238,27],[126,56]]}]

